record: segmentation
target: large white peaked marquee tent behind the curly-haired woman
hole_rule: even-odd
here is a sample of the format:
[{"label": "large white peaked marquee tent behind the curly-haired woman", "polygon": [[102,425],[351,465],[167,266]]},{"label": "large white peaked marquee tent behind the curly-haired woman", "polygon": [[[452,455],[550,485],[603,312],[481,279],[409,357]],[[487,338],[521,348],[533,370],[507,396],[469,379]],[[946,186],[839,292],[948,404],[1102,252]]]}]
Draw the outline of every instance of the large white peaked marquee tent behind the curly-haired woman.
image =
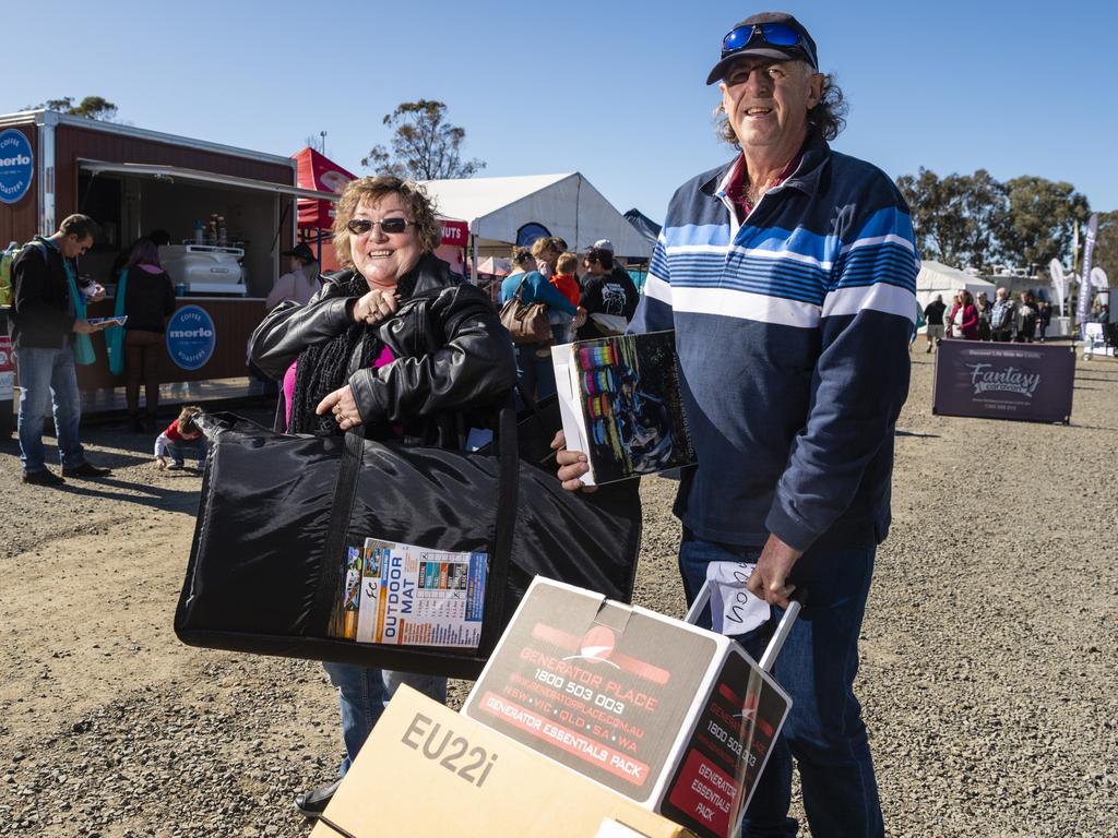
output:
[{"label": "large white peaked marquee tent behind the curly-haired woman", "polygon": [[576,251],[609,239],[619,257],[652,256],[653,244],[578,172],[428,180],[423,185],[439,215],[470,225],[475,265],[479,257],[508,256],[527,225],[560,236]]}]

